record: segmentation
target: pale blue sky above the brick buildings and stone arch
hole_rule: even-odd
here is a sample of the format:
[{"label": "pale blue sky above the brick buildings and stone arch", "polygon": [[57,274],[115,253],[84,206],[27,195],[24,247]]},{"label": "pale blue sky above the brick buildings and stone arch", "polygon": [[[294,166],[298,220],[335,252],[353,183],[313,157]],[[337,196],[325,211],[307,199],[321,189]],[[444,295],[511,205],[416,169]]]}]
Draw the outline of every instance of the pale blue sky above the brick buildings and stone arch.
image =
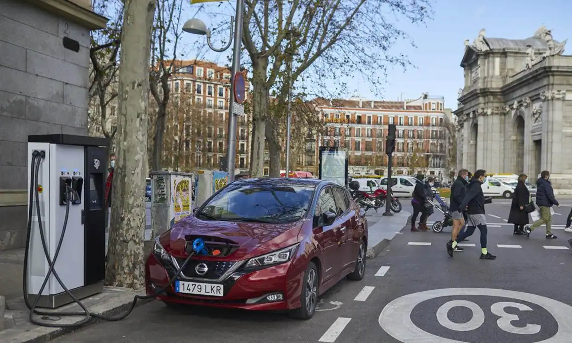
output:
[{"label": "pale blue sky above the brick buildings and stone arch", "polygon": [[[442,95],[445,107],[456,109],[457,92],[463,86],[460,61],[464,41],[469,39],[472,43],[480,29],[486,29],[485,37],[524,39],[545,25],[555,40],[572,41],[572,0],[434,0],[432,10],[432,19],[424,24],[397,23],[416,47],[410,41],[400,41],[391,53],[407,55],[413,66],[407,70],[390,68],[386,85],[377,94],[358,75],[348,75],[344,79],[348,82],[348,98],[358,95],[367,99],[415,99],[428,92]],[[197,40],[194,35],[183,36],[182,46]],[[572,42],[567,43],[564,54],[572,55]],[[228,53],[214,52],[205,55],[206,59],[223,64],[227,63],[227,56]]]}]

